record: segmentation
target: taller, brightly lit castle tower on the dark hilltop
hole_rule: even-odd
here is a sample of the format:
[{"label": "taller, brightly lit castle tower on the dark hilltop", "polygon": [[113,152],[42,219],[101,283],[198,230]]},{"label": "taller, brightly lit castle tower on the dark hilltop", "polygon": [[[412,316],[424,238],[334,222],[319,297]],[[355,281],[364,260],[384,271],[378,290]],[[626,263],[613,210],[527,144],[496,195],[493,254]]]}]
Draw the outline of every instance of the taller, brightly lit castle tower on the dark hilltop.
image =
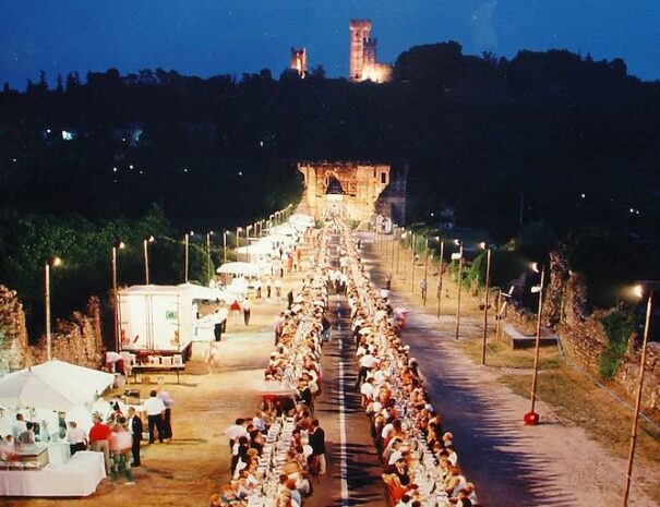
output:
[{"label": "taller, brightly lit castle tower on the dark hilltop", "polygon": [[371,38],[370,20],[350,21],[350,71],[353,83],[373,81],[385,83],[392,80],[392,67],[376,60],[377,40]]}]

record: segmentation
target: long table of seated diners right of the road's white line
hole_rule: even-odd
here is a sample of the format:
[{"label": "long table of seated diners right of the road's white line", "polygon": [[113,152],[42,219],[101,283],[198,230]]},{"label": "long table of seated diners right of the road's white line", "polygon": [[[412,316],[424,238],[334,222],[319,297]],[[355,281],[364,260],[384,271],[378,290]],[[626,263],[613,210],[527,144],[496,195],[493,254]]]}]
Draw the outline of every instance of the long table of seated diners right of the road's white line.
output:
[{"label": "long table of seated diners right of the road's white line", "polygon": [[359,363],[358,386],[392,505],[477,506],[441,413],[432,406],[417,360],[400,339],[387,292],[372,288],[349,227],[341,227],[341,270]]}]

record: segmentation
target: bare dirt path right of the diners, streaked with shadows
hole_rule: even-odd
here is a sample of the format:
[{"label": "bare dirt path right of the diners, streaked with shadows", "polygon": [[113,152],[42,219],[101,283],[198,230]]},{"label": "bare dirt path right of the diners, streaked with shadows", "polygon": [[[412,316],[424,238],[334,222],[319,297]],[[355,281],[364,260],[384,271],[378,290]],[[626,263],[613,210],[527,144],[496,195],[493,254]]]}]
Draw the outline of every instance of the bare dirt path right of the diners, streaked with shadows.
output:
[{"label": "bare dirt path right of the diners, streaked with shadows", "polygon": [[[371,261],[372,281],[380,286],[384,275],[374,264],[373,254],[365,257]],[[449,307],[437,319],[416,311],[416,303],[396,291],[392,298],[395,305],[411,310],[404,340],[420,363],[432,399],[443,413],[444,426],[454,434],[459,462],[468,480],[477,484],[484,505],[620,505],[624,460],[610,456],[580,427],[563,425],[545,403],[537,409],[542,423],[525,426],[521,419],[529,401],[500,384],[497,371],[480,367],[461,353],[454,340],[455,317],[448,314]],[[461,336],[479,331],[477,315],[465,315]],[[641,467],[636,469],[638,479],[650,473]],[[628,505],[657,504],[634,486]]]}]

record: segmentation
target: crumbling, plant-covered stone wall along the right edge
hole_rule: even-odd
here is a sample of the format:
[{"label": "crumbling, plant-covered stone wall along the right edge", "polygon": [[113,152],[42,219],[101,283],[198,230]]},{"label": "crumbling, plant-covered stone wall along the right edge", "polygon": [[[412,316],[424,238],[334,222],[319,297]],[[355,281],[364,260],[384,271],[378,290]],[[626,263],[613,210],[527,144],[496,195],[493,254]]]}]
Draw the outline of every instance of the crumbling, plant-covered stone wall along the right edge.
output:
[{"label": "crumbling, plant-covered stone wall along the right edge", "polygon": [[[593,375],[599,374],[599,357],[608,345],[601,319],[609,311],[587,307],[587,289],[577,273],[568,269],[565,251],[560,248],[550,254],[550,278],[543,300],[543,326],[555,331],[574,362]],[[523,334],[533,334],[536,315],[527,309],[507,307],[505,319]],[[633,334],[628,351],[612,381],[634,400],[637,393],[640,340]],[[660,343],[651,342],[647,349],[643,408],[660,415]]]}]

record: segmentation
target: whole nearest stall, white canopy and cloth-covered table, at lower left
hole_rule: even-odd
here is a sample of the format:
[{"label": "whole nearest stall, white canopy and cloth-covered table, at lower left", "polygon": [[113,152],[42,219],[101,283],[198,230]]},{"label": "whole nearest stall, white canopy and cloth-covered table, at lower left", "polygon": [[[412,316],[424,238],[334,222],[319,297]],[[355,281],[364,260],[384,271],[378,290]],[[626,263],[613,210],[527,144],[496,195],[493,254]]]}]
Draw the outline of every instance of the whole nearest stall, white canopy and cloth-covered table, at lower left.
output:
[{"label": "whole nearest stall, white canopy and cloth-covered table, at lower left", "polygon": [[0,496],[87,496],[96,491],[106,475],[103,454],[71,457],[63,432],[72,413],[89,418],[92,403],[113,379],[57,360],[0,379],[0,403],[9,409],[0,419],[0,433],[15,440],[17,413],[36,430],[34,444],[14,443],[10,460],[0,461]]}]

